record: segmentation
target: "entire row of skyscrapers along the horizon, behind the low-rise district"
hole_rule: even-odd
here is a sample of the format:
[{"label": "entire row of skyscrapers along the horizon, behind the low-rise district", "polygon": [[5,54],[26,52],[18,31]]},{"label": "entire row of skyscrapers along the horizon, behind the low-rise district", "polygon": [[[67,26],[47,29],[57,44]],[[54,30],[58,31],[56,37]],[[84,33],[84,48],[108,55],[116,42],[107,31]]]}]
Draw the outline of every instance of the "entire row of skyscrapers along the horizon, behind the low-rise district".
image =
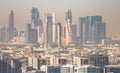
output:
[{"label": "entire row of skyscrapers along the horizon, behind the low-rise district", "polygon": [[[31,9],[31,22],[27,24],[26,33],[16,31],[14,27],[14,12],[9,14],[8,28],[0,29],[0,41],[18,41],[26,44],[39,44],[48,47],[66,47],[81,44],[100,44],[106,39],[106,24],[102,16],[86,16],[79,18],[79,24],[74,24],[71,9],[67,9],[65,23],[56,22],[56,13],[46,13],[43,20],[39,10]],[[17,38],[19,37],[19,38]],[[24,39],[23,39],[24,38]],[[22,41],[21,41],[22,40]]]}]

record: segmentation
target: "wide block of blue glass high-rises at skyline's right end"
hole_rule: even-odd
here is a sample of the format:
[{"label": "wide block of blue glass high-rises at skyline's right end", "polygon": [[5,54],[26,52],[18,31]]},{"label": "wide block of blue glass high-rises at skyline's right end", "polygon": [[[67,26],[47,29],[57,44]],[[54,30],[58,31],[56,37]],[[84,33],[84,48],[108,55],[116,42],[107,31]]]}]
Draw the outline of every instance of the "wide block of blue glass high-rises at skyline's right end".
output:
[{"label": "wide block of blue glass high-rises at skyline's right end", "polygon": [[106,25],[102,16],[80,17],[80,42],[100,43],[106,36]]}]

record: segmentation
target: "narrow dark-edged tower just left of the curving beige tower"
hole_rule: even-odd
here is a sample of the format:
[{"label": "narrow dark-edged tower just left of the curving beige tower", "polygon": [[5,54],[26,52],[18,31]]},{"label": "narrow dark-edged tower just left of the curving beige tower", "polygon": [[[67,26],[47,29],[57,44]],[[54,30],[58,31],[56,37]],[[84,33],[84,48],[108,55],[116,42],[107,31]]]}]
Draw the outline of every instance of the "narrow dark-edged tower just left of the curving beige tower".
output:
[{"label": "narrow dark-edged tower just left of the curving beige tower", "polygon": [[57,38],[58,38],[58,48],[61,48],[61,43],[62,43],[62,26],[61,26],[61,23],[58,23],[57,24],[57,29],[58,29],[58,35],[57,35]]}]

